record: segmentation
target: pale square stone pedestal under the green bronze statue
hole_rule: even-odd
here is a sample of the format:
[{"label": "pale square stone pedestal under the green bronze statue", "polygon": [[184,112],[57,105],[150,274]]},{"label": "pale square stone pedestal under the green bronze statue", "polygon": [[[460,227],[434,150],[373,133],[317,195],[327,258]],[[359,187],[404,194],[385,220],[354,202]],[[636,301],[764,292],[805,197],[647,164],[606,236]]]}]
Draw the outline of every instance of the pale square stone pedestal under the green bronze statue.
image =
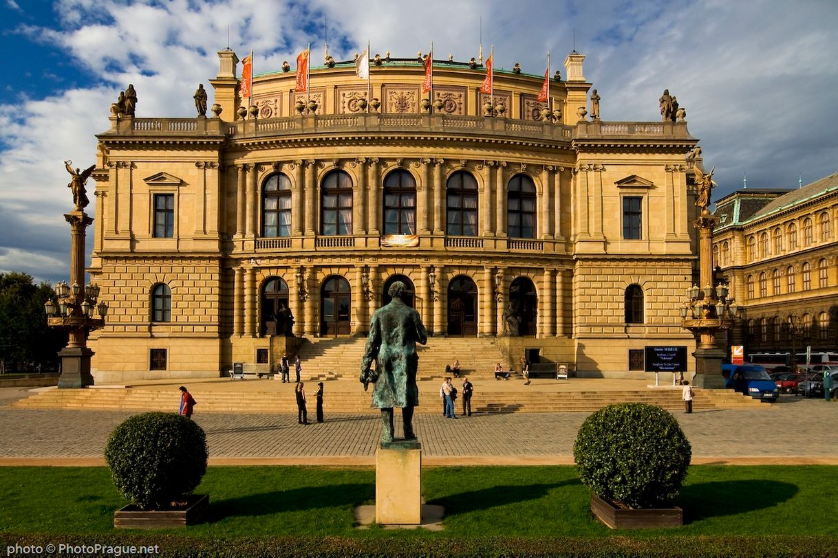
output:
[{"label": "pale square stone pedestal under the green bronze statue", "polygon": [[381,443],[375,453],[375,523],[422,523],[422,444]]}]

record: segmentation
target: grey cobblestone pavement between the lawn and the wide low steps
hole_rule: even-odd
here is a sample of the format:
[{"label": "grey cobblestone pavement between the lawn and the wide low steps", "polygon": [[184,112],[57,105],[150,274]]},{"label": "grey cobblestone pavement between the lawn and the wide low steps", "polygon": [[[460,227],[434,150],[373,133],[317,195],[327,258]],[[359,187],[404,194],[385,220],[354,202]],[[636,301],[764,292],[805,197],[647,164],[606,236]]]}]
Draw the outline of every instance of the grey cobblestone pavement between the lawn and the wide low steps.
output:
[{"label": "grey cobblestone pavement between the lawn and the wide low steps", "polygon": [[[0,464],[104,463],[108,435],[134,413],[8,407],[24,394],[0,388]],[[572,463],[573,441],[587,414],[474,414],[452,420],[440,409],[416,414],[414,421],[427,465],[561,464]],[[838,464],[838,402],[781,396],[771,408],[675,417],[692,444],[693,463]],[[194,419],[207,433],[210,464],[370,465],[380,436],[377,415],[331,415],[328,405],[326,422],[308,426],[290,413],[196,412]]]}]

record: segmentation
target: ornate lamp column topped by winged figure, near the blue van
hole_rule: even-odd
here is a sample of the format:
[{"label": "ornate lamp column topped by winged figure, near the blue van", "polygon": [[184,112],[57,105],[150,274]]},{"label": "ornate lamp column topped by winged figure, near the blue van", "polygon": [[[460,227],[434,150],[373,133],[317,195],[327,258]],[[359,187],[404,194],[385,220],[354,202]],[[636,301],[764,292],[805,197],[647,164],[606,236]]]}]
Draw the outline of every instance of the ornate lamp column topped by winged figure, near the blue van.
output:
[{"label": "ornate lamp column topped by winged figure, near the blue van", "polygon": [[693,356],[696,357],[696,387],[723,388],[722,359],[725,351],[716,347],[716,333],[727,330],[737,314],[736,301],[727,298],[727,284],[716,284],[712,269],[713,228],[718,218],[710,214],[710,191],[714,185],[713,172],[702,173],[693,167],[699,195],[696,206],[701,209],[699,218],[694,223],[698,229],[699,288],[693,284],[687,289],[687,300],[680,308],[681,327],[696,335],[698,346]]}]

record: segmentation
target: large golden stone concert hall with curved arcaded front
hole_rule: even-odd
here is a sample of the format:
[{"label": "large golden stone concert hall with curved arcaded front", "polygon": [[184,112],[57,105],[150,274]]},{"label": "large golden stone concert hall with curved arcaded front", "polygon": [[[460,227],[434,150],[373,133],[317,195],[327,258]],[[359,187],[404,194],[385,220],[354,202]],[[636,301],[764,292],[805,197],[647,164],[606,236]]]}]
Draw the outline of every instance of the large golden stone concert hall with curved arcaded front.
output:
[{"label": "large golden stone concert hall with curved arcaded front", "polygon": [[370,95],[352,62],[313,69],[308,93],[257,75],[246,110],[238,59],[219,56],[219,114],[115,114],[97,136],[97,381],[274,363],[288,333],[365,335],[396,279],[433,335],[474,351],[488,338],[626,375],[644,346],[694,348],[679,305],[696,139],[683,118],[587,120],[582,54],[551,79],[552,110],[543,77],[496,71],[489,96],[482,67],[450,61],[423,102],[417,59],[371,64]]}]

